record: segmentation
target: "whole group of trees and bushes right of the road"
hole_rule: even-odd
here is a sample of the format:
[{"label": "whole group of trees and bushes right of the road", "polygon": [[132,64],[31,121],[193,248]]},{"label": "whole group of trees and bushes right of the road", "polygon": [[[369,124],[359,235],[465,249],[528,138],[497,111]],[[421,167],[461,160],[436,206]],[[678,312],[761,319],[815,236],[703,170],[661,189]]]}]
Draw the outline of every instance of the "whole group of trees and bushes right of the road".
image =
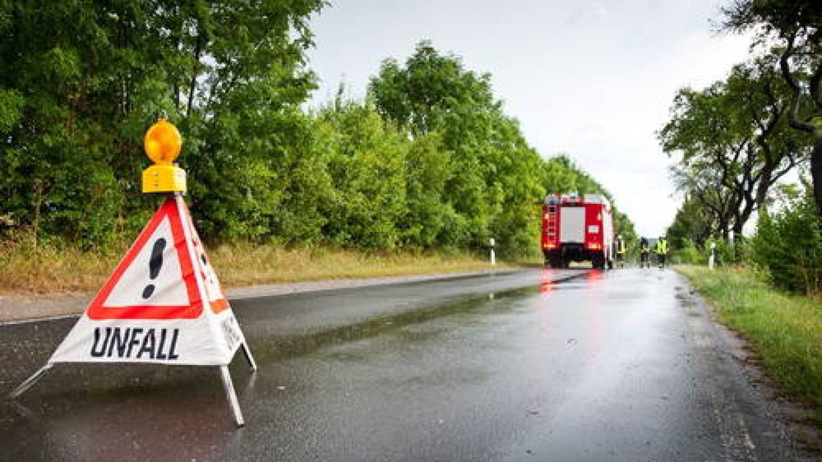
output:
[{"label": "whole group of trees and bushes right of the road", "polygon": [[[747,260],[779,287],[822,290],[822,7],[809,0],[734,0],[719,30],[754,30],[752,58],[722,81],[677,92],[658,132],[685,201],[667,233],[704,256]],[[781,185],[798,173],[799,185]],[[750,242],[744,231],[757,230]]]}]

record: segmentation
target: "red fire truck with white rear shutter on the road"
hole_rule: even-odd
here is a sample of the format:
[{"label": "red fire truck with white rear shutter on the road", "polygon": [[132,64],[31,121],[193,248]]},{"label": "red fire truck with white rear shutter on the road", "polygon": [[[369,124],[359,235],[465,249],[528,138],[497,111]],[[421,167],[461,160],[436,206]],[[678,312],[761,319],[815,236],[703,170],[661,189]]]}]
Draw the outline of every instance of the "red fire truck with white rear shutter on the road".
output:
[{"label": "red fire truck with white rear shutter on the road", "polygon": [[543,204],[545,264],[567,268],[590,261],[593,268],[613,266],[611,202],[602,194],[549,194]]}]

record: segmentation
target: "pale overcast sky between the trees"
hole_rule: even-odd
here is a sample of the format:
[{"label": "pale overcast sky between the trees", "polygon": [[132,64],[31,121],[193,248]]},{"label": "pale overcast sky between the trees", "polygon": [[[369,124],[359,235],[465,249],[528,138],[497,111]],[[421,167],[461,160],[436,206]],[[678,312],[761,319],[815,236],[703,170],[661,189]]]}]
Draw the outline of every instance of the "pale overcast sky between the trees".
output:
[{"label": "pale overcast sky between the trees", "polygon": [[[725,0],[727,2],[727,0]],[[422,39],[490,72],[495,95],[543,157],[566,153],[610,191],[640,235],[681,196],[654,132],[677,89],[722,79],[750,39],[715,35],[721,0],[332,0],[312,21],[312,104],[340,81],[361,98],[385,58]]]}]

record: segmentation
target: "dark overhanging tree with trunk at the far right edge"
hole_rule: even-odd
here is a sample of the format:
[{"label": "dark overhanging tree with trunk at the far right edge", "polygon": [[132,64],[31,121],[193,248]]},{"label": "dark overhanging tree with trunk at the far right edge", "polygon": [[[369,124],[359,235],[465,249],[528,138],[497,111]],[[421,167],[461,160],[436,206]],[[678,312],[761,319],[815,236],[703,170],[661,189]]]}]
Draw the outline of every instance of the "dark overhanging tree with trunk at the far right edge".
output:
[{"label": "dark overhanging tree with trunk at the far right edge", "polygon": [[[724,30],[762,27],[760,40],[783,47],[779,69],[791,90],[790,126],[813,137],[810,178],[822,218],[822,7],[815,0],[734,0],[723,8]],[[810,95],[808,101],[804,94]]]}]

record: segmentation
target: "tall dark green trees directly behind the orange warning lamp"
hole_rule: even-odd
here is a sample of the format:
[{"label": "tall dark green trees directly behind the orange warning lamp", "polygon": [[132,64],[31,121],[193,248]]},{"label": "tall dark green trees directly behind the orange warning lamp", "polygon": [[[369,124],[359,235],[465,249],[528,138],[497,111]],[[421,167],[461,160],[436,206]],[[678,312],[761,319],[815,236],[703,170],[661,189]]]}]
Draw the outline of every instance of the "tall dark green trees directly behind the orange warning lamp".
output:
[{"label": "tall dark green trees directly behind the orange warning lamp", "polygon": [[0,2],[0,214],[87,245],[138,228],[141,140],[165,111],[204,234],[269,233],[322,4]]}]

